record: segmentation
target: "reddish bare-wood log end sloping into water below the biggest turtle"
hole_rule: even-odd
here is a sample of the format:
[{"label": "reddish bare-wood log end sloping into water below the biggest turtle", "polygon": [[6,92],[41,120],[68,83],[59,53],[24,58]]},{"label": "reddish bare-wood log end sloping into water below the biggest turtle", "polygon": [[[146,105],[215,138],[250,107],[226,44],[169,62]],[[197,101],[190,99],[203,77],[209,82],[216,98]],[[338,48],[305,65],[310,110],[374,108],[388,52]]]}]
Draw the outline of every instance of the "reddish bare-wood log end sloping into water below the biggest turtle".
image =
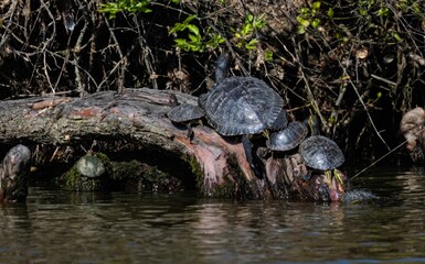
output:
[{"label": "reddish bare-wood log end sloping into water below the biggest turtle", "polygon": [[191,167],[199,177],[201,193],[206,196],[262,197],[243,146],[236,139],[226,141],[205,127],[193,128],[193,140],[184,133],[177,133],[173,140],[182,144],[192,158]]}]

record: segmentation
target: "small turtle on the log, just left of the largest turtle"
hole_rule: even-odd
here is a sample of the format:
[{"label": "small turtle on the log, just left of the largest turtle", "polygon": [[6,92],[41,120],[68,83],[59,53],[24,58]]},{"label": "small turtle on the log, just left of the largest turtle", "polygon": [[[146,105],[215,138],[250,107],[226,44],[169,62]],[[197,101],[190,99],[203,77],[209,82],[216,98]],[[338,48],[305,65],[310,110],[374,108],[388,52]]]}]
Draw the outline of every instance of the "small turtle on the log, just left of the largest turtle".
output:
[{"label": "small turtle on the log, just left of the largest turtle", "polygon": [[188,138],[192,139],[193,131],[191,124],[204,117],[203,110],[200,107],[190,103],[180,105],[173,94],[170,94],[169,101],[173,108],[168,112],[168,118],[174,123],[187,124]]}]

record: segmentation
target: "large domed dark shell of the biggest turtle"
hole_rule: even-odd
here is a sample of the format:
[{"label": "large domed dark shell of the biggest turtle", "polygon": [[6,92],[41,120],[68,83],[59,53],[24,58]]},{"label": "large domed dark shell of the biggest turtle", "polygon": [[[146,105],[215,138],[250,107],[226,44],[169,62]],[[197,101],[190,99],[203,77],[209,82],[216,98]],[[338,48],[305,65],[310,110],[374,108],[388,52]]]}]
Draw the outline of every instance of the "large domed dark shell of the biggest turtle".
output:
[{"label": "large domed dark shell of the biggest turtle", "polygon": [[284,100],[263,80],[230,77],[200,98],[200,106],[220,134],[257,134],[273,127]]}]

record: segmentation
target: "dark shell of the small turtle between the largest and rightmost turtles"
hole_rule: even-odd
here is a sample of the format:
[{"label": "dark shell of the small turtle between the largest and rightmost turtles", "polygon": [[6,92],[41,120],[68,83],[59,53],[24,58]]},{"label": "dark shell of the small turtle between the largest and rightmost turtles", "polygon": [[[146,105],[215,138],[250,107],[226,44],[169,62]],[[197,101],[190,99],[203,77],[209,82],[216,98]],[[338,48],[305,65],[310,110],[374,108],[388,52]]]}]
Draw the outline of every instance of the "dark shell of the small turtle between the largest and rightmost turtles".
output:
[{"label": "dark shell of the small turtle between the largest and rightmost turtles", "polygon": [[272,151],[289,151],[295,148],[306,139],[307,125],[302,122],[290,122],[284,130],[270,134],[267,147]]}]

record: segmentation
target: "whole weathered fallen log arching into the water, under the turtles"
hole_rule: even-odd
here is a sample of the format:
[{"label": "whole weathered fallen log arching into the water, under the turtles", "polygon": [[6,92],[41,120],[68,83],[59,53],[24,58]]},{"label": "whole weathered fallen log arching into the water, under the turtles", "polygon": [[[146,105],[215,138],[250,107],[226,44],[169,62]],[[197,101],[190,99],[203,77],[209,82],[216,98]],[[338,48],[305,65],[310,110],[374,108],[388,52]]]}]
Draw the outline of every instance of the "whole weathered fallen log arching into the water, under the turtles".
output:
[{"label": "whole weathered fallen log arching into the water, under the turtles", "polygon": [[196,103],[196,98],[184,94],[146,88],[121,94],[102,91],[86,98],[1,101],[0,142],[51,150],[44,154],[50,158],[39,157],[44,163],[66,160],[68,147],[77,153],[83,146],[96,146],[117,157],[131,153],[131,158],[155,163],[174,175],[191,173],[199,191],[208,196],[323,199],[317,194],[321,185],[329,188],[330,183],[317,180],[325,177],[321,174],[306,182],[302,177],[308,169],[297,153],[262,157],[266,173],[257,178],[240,138],[223,138],[208,125],[198,125],[192,129],[193,139],[189,139],[185,125],[167,118],[170,92],[180,102]]}]

